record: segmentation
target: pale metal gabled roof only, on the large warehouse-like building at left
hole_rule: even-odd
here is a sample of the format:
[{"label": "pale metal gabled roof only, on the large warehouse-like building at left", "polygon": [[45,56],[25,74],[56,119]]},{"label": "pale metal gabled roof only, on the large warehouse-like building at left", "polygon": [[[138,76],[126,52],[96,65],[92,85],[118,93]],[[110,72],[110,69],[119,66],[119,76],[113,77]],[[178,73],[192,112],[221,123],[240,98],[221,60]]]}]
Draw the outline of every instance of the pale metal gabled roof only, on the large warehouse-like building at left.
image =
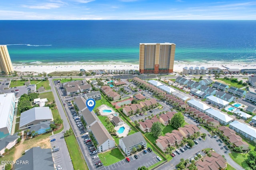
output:
[{"label": "pale metal gabled roof only, on the large warehouse-like building at left", "polygon": [[27,125],[35,120],[53,119],[52,111],[49,107],[33,107],[20,114],[20,127]]}]

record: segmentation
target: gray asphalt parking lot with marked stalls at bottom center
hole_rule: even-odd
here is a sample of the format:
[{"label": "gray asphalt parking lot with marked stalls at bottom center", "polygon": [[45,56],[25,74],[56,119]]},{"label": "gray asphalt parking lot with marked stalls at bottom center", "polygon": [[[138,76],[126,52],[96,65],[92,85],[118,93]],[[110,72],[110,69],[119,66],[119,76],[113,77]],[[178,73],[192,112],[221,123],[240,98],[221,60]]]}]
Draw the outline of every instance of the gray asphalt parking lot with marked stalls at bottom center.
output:
[{"label": "gray asphalt parking lot with marked stalls at bottom center", "polygon": [[[116,162],[114,164],[105,166],[105,167],[99,167],[97,169],[99,170],[137,170],[138,167],[146,166],[146,168],[156,164],[158,160],[156,159],[156,154],[154,152],[147,152],[147,154],[144,154],[142,151],[136,153],[138,156],[138,159],[135,159],[134,156],[128,156],[130,159],[130,162],[126,162],[125,159],[120,160],[119,162]],[[97,162],[97,161],[96,161]]]}]

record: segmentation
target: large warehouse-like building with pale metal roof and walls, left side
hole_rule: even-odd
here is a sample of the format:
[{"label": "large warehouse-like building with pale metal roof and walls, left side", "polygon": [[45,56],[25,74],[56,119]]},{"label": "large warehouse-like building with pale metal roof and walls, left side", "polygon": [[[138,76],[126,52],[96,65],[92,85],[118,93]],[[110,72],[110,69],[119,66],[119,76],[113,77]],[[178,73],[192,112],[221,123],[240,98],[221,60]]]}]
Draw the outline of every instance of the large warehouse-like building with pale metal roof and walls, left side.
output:
[{"label": "large warehouse-like building with pale metal roof and walls, left side", "polygon": [[20,114],[20,129],[47,121],[53,121],[51,109],[49,107],[33,107]]}]

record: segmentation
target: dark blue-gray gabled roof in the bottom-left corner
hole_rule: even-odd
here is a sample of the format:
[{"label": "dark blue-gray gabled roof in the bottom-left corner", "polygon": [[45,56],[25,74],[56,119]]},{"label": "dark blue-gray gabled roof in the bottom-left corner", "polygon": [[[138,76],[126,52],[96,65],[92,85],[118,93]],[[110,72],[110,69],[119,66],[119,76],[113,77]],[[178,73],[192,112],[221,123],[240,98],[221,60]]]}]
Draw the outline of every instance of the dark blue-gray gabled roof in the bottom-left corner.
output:
[{"label": "dark blue-gray gabled roof in the bottom-left corner", "polygon": [[28,164],[15,164],[14,170],[53,170],[54,162],[51,149],[33,147],[25,152],[18,161],[28,161]]}]

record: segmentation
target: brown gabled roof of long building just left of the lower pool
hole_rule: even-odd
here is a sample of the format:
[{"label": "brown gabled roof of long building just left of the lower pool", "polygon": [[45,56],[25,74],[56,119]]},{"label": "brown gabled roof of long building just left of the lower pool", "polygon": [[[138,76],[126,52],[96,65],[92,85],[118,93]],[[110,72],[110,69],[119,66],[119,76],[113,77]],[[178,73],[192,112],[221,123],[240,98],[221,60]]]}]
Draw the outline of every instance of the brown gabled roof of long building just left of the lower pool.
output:
[{"label": "brown gabled roof of long building just left of the lower pool", "polygon": [[91,127],[89,127],[89,130],[92,131],[93,136],[98,142],[97,147],[101,146],[108,140],[114,141],[114,139],[111,137],[111,135],[108,133],[107,129],[104,127],[104,125],[102,125],[101,122],[94,123]]}]

